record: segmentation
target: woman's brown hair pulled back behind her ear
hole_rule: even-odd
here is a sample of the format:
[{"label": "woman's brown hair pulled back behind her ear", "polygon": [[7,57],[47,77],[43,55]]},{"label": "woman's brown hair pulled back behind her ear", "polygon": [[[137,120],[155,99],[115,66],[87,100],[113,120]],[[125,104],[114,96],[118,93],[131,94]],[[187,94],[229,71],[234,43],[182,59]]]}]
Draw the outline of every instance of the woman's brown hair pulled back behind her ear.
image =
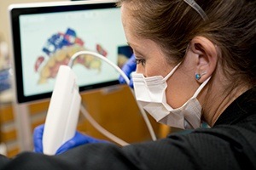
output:
[{"label": "woman's brown hair pulled back behind her ear", "polygon": [[172,56],[172,61],[183,59],[193,37],[207,37],[217,45],[219,63],[230,82],[255,86],[256,1],[195,2],[206,12],[208,20],[202,20],[183,0],[119,0],[118,5],[130,3],[137,36],[157,42],[167,56]]}]

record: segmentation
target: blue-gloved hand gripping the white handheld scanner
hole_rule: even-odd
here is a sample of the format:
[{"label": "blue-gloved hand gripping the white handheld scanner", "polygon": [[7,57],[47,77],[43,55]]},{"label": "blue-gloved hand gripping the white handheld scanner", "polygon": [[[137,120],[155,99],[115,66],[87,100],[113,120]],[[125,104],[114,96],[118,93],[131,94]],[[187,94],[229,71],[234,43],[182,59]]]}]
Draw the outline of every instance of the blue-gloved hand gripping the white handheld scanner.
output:
[{"label": "blue-gloved hand gripping the white handheld scanner", "polygon": [[[44,133],[44,124],[39,125],[34,129],[33,133],[33,143],[34,151],[38,153],[43,153],[43,133]],[[82,133],[76,132],[73,139],[68,140],[65,144],[62,144],[61,147],[56,151],[57,154],[61,154],[67,150],[70,150],[74,147],[77,147],[82,144],[91,144],[91,143],[108,143],[106,140],[94,139],[90,136],[84,135]]]}]

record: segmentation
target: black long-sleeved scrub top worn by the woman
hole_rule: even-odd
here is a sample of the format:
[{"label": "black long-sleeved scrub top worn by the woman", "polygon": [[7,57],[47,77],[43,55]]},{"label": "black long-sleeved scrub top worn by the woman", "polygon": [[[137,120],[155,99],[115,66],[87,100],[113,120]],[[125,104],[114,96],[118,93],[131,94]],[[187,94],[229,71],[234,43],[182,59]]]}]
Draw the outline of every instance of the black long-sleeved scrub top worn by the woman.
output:
[{"label": "black long-sleeved scrub top worn by the woman", "polygon": [[256,88],[236,99],[212,128],[130,144],[84,144],[58,155],[0,157],[0,169],[256,169]]}]

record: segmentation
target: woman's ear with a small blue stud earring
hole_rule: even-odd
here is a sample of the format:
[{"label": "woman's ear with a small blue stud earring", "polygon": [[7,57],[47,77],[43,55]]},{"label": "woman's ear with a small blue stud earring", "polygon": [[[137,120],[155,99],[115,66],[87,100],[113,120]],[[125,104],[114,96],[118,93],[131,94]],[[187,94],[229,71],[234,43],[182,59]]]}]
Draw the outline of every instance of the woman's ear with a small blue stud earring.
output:
[{"label": "woman's ear with a small blue stud earring", "polygon": [[[199,74],[198,82],[205,82],[208,77],[212,76],[218,63],[218,49],[206,37],[194,37],[190,44],[189,49],[198,54],[196,60],[195,75]],[[196,78],[196,77],[195,77]]]}]

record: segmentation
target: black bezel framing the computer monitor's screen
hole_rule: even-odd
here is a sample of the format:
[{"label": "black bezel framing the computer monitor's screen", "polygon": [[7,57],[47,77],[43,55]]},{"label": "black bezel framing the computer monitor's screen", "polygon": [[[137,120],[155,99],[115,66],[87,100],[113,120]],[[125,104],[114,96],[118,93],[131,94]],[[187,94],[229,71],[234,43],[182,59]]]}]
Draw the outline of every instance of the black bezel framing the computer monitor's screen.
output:
[{"label": "black bezel framing the computer monitor's screen", "polygon": [[[10,22],[10,42],[12,55],[13,83],[15,90],[15,102],[18,104],[37,102],[42,99],[49,99],[52,92],[44,94],[34,94],[30,96],[24,95],[21,48],[20,48],[20,14],[42,14],[55,13],[63,11],[90,10],[96,8],[118,8],[116,1],[80,1],[80,2],[54,2],[54,3],[20,3],[9,6],[9,22]],[[109,82],[101,82],[91,85],[79,87],[79,92],[83,93],[88,90],[97,88],[105,88],[119,84],[118,79]]]}]

